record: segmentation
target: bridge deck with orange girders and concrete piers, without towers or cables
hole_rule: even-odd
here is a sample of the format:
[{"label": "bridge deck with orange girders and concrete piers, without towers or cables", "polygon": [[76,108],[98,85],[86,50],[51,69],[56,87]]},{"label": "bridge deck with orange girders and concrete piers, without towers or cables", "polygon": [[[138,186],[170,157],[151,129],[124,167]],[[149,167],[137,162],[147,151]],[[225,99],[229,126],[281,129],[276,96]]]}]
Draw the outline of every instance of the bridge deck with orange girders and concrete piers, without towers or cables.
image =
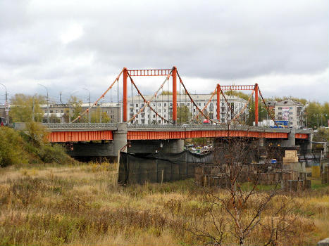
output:
[{"label": "bridge deck with orange girders and concrete piers, without towers or cables", "polygon": [[179,153],[186,138],[240,137],[259,145],[311,148],[312,131],[248,127],[244,125],[152,125],[123,123],[44,124],[53,143],[75,143],[72,155],[116,156],[124,147],[129,153],[163,151]]}]

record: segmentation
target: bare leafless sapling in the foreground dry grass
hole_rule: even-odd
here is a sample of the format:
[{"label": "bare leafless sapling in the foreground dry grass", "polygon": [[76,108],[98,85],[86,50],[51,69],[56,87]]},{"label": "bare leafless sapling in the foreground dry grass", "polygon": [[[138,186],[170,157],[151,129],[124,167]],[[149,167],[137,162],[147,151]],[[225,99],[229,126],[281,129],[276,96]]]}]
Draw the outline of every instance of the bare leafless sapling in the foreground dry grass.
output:
[{"label": "bare leafless sapling in the foreground dry grass", "polygon": [[[264,164],[251,164],[256,148],[250,140],[236,137],[216,143],[213,168],[223,190],[203,188],[204,215],[187,224],[187,231],[206,245],[277,245],[278,240],[293,236],[288,233],[297,218],[292,216],[297,209],[292,198],[278,198],[279,181],[268,190],[259,186],[262,173],[278,153],[268,148]],[[263,237],[253,236],[254,231]]]}]

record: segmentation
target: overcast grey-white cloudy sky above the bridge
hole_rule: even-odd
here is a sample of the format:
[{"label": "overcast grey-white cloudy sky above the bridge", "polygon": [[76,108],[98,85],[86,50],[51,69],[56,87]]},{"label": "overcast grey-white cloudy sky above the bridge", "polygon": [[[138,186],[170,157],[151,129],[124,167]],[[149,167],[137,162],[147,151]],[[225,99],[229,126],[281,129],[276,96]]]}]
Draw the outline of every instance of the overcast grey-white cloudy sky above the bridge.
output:
[{"label": "overcast grey-white cloudy sky above the bridge", "polygon": [[[123,67],[175,65],[192,93],[258,83],[266,97],[329,101],[328,15],[328,0],[0,0],[0,83],[87,101],[82,87],[94,100]],[[145,94],[163,82],[134,79]]]}]

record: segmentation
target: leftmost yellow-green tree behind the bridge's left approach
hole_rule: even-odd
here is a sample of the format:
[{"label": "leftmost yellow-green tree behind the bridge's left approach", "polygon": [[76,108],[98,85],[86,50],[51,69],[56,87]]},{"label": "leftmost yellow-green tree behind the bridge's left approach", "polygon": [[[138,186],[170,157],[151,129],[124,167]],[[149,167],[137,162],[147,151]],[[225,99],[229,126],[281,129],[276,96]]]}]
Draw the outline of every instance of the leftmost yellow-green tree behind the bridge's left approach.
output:
[{"label": "leftmost yellow-green tree behind the bridge's left approach", "polygon": [[46,103],[44,96],[35,94],[34,96],[25,94],[15,94],[11,98],[11,110],[9,117],[12,122],[42,122],[44,112],[40,104]]}]

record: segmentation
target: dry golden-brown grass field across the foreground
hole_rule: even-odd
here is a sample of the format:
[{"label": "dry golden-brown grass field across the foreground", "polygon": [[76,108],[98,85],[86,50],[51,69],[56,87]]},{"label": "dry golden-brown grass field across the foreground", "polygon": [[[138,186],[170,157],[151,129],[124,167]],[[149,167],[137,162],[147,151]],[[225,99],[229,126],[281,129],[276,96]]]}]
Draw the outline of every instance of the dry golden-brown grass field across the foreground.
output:
[{"label": "dry golden-brown grass field across the foreground", "polygon": [[[0,245],[204,244],[190,232],[209,225],[204,190],[192,179],[121,187],[115,170],[109,163],[0,169]],[[312,190],[294,194],[297,219],[277,245],[316,245],[329,236],[328,186],[312,182]],[[265,216],[287,196],[272,200]],[[255,230],[246,245],[263,243],[264,233]],[[223,245],[238,242],[227,233]]]}]

